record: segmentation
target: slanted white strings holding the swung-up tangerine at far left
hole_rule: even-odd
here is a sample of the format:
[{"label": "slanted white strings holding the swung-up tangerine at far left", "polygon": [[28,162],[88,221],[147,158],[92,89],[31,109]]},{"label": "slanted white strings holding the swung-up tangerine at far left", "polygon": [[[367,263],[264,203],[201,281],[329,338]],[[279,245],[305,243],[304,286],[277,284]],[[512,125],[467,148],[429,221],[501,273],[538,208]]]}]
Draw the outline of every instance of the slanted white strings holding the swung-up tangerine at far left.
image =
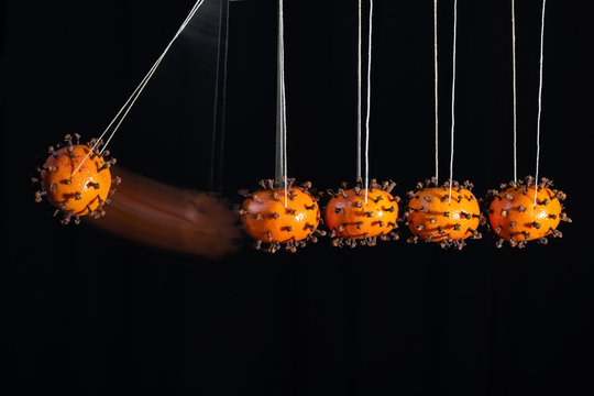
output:
[{"label": "slanted white strings holding the swung-up tangerine at far left", "polygon": [[[109,123],[109,125],[106,128],[106,130],[103,131],[103,133],[101,133],[101,135],[99,136],[99,139],[97,139],[97,142],[92,145],[91,150],[89,150],[89,152],[87,153],[87,155],[85,156],[85,158],[82,158],[82,161],[80,162],[80,164],[78,164],[78,166],[76,167],[76,169],[72,173],[72,175],[74,175],[76,172],[78,172],[78,169],[80,169],[80,167],[82,166],[82,164],[85,163],[85,161],[87,161],[87,158],[89,157],[89,155],[95,152],[95,148],[97,147],[97,145],[101,142],[101,140],[103,139],[103,136],[108,133],[108,131],[111,129],[111,127],[116,123],[116,121],[119,119],[119,122],[116,124],[116,127],[113,128],[113,131],[111,132],[111,134],[109,135],[109,139],[107,140],[106,144],[103,145],[103,147],[99,151],[99,154],[102,154],[103,151],[107,148],[109,142],[111,141],[111,139],[113,138],[113,135],[116,134],[116,132],[118,131],[118,129],[120,128],[120,125],[122,124],[123,120],[125,119],[125,117],[128,116],[128,113],[130,112],[130,109],[132,109],[132,107],[134,106],[134,103],[136,102],[136,99],[140,97],[140,95],[142,94],[142,91],[144,90],[144,88],[146,87],[146,85],[148,84],[148,81],[151,80],[151,78],[153,77],[153,75],[155,74],[156,69],[158,68],[158,66],[161,65],[161,62],[163,61],[163,58],[165,57],[165,55],[169,52],[169,48],[172,47],[173,43],[177,40],[177,37],[179,36],[179,34],[182,34],[182,32],[184,31],[184,29],[186,29],[187,24],[189,23],[189,21],[194,18],[194,15],[196,14],[196,12],[198,11],[198,9],[202,6],[202,3],[205,2],[205,0],[198,0],[191,8],[191,10],[189,11],[188,15],[186,16],[186,19],[184,20],[184,22],[182,23],[182,25],[179,26],[179,29],[177,30],[176,34],[174,35],[174,37],[172,38],[172,41],[167,44],[167,46],[165,47],[165,50],[163,51],[163,53],[161,54],[161,56],[156,59],[156,62],[153,64],[153,66],[151,67],[151,69],[148,70],[148,73],[144,76],[144,78],[141,80],[141,82],[139,84],[139,86],[134,89],[134,91],[132,92],[132,95],[128,98],[128,100],[125,101],[125,103],[122,106],[122,108],[120,109],[120,111],[118,111],[118,113],[116,114],[116,117],[111,120],[111,122]],[[125,110],[125,111],[124,111]],[[123,114],[122,114],[123,112]],[[121,116],[121,118],[120,118]],[[70,176],[72,176],[70,175]]]}]

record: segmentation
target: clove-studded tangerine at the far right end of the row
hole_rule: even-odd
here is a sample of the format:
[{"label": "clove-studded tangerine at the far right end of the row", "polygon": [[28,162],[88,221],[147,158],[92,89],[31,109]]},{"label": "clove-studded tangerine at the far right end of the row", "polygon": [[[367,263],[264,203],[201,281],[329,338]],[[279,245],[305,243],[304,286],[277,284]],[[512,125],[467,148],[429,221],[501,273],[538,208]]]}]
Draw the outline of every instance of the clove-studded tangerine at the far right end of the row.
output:
[{"label": "clove-studded tangerine at the far right end of the row", "polygon": [[497,248],[505,242],[517,248],[524,248],[532,240],[548,243],[547,235],[562,237],[557,229],[560,221],[571,222],[561,204],[565,194],[550,189],[551,180],[543,177],[537,186],[535,178],[527,176],[525,182],[502,184],[502,191],[493,189],[487,193],[488,220],[498,237]]}]

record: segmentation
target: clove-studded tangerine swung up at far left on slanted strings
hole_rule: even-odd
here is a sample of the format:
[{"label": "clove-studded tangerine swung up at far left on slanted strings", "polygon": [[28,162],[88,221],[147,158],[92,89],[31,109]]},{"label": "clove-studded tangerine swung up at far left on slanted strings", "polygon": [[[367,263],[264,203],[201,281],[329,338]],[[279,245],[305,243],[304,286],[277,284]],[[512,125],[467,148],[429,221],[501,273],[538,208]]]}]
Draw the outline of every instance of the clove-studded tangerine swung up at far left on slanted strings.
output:
[{"label": "clove-studded tangerine swung up at far left on slanted strings", "polygon": [[[35,201],[41,202],[45,197],[56,207],[54,216],[64,213],[64,224],[69,223],[73,217],[75,223],[79,223],[84,216],[103,216],[103,206],[109,204],[113,193],[110,166],[116,158],[107,160],[108,151],[99,154],[101,144],[96,144],[96,140],[80,144],[80,135],[75,134],[75,138],[76,144],[68,134],[64,139],[66,145],[50,146],[50,156],[38,168],[40,177],[32,178],[41,184],[41,189],[35,193]],[[116,177],[113,185],[119,183],[120,178]]]}]

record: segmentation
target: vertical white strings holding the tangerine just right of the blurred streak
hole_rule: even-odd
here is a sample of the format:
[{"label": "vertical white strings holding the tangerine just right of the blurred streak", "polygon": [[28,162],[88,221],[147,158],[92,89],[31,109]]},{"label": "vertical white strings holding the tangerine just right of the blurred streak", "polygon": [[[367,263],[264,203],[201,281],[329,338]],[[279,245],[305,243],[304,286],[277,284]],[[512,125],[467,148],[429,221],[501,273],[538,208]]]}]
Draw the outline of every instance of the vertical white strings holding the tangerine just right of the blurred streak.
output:
[{"label": "vertical white strings holding the tangerine just right of the blurred streak", "polygon": [[276,183],[284,186],[287,207],[287,106],[285,94],[285,24],[284,1],[278,0],[277,108],[276,108]]}]

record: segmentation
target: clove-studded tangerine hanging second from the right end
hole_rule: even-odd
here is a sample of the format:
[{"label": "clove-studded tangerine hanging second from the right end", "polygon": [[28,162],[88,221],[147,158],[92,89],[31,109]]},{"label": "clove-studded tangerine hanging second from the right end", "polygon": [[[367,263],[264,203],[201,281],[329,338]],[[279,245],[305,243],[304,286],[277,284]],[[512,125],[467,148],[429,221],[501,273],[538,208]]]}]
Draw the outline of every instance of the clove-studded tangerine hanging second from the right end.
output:
[{"label": "clove-studded tangerine hanging second from the right end", "polygon": [[422,240],[439,242],[442,248],[462,249],[465,239],[481,239],[477,228],[485,219],[472,188],[470,182],[463,185],[452,182],[451,189],[449,182],[438,187],[435,178],[418,183],[416,190],[407,193],[405,224],[413,233],[408,242]]}]

